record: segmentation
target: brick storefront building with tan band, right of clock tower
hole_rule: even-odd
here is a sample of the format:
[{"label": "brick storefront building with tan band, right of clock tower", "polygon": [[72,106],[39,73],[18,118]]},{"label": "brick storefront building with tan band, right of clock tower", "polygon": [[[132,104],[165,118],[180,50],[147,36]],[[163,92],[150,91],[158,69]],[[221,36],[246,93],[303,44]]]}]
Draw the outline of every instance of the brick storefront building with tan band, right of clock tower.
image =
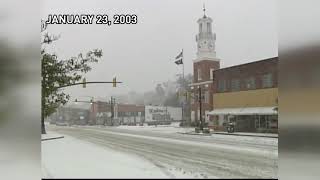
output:
[{"label": "brick storefront building with tan band, right of clock tower", "polygon": [[278,58],[214,71],[213,110],[209,126],[225,130],[235,122],[236,131],[278,131]]}]

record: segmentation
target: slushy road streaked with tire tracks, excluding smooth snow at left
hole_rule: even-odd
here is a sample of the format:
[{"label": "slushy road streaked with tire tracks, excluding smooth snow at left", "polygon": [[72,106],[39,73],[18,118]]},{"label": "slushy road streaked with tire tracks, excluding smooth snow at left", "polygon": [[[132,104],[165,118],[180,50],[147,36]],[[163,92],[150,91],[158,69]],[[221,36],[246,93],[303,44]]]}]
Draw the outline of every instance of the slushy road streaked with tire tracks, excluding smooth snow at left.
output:
[{"label": "slushy road streaked with tire tracks, excluding smooth snow at left", "polygon": [[[177,131],[181,128],[176,128]],[[214,134],[192,136],[155,129],[59,127],[49,131],[72,136],[149,160],[168,177],[173,170],[195,178],[277,178],[278,139]],[[156,178],[156,177],[155,177]]]}]

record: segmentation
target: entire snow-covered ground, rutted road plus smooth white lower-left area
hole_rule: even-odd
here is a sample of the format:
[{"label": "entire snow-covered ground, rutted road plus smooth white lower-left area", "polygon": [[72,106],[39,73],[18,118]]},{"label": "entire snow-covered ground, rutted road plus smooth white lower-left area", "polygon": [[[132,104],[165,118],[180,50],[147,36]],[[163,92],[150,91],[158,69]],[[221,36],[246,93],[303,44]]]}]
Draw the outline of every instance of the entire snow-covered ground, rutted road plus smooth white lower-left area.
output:
[{"label": "entire snow-covered ground, rutted road plus smooth white lower-left area", "polygon": [[277,178],[278,139],[190,136],[179,127],[61,127],[42,142],[44,177]]}]

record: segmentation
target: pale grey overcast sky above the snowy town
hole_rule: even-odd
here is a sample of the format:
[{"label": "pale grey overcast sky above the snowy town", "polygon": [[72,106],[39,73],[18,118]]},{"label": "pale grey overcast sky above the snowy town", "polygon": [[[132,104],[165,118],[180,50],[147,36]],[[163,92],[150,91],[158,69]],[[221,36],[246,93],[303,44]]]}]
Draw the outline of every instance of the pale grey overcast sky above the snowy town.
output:
[{"label": "pale grey overcast sky above the snowy town", "polygon": [[70,87],[72,98],[109,97],[129,91],[144,92],[157,83],[174,79],[181,66],[174,57],[184,49],[185,73],[192,73],[196,58],[197,20],[206,14],[217,34],[216,52],[221,67],[278,56],[277,3],[273,0],[46,0],[42,18],[48,14],[136,14],[135,25],[49,25],[60,34],[52,45],[60,58],[101,48],[102,60],[86,75],[88,81],[124,83]]}]

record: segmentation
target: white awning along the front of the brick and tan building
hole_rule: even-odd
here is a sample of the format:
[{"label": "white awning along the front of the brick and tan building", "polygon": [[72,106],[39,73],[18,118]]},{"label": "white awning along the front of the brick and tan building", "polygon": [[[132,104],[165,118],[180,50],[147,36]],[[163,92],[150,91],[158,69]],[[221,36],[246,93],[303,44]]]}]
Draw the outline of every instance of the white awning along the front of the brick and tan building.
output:
[{"label": "white awning along the front of the brick and tan building", "polygon": [[277,115],[276,107],[221,108],[210,111],[208,115]]}]

